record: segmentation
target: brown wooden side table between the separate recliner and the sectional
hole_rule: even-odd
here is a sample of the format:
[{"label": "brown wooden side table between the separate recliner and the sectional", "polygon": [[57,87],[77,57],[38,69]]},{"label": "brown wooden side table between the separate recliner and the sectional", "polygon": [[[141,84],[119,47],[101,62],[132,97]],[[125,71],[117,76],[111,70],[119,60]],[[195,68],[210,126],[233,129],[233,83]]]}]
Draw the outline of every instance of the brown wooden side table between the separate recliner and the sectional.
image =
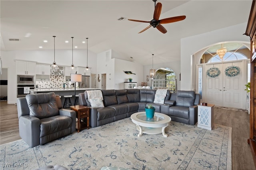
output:
[{"label": "brown wooden side table between the separate recliner and the sectional", "polygon": [[[76,111],[77,118],[77,132],[87,128],[89,129],[89,119],[90,119],[90,107],[83,105],[70,106],[71,110]],[[87,123],[81,122],[81,118],[87,118]]]}]

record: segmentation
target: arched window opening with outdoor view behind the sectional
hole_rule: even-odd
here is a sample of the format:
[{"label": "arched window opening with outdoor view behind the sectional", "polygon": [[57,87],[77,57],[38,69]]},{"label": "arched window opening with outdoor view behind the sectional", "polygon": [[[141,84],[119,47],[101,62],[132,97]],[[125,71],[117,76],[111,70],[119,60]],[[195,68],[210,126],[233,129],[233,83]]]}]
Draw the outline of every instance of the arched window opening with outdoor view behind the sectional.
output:
[{"label": "arched window opening with outdoor view behind the sectional", "polygon": [[170,68],[159,68],[152,79],[152,87],[153,89],[169,89],[172,93],[175,93],[177,91],[176,74]]}]

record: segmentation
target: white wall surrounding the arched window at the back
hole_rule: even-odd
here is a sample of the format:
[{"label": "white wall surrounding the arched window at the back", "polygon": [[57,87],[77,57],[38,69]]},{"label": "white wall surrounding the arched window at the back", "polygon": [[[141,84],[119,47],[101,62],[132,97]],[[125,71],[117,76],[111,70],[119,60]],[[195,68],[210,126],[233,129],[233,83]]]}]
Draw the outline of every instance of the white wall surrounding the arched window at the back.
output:
[{"label": "white wall surrounding the arched window at the back", "polygon": [[[154,69],[160,69],[162,67],[166,67],[172,69],[176,75],[177,79],[177,89],[180,90],[180,61],[154,64]],[[149,75],[149,70],[152,68],[152,65],[144,65],[143,67],[143,82],[147,82],[147,75]],[[148,86],[151,86],[151,78],[149,77]]]}]

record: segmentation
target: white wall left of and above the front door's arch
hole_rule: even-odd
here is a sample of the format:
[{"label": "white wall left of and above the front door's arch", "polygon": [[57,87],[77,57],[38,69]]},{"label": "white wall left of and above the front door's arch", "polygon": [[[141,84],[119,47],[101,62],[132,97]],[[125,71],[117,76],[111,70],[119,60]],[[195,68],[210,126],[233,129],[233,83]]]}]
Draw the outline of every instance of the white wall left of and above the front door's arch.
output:
[{"label": "white wall left of and above the front door's arch", "polygon": [[192,55],[197,51],[200,51],[204,47],[226,41],[242,41],[250,42],[248,36],[243,35],[246,30],[247,23],[222,28],[220,30],[214,30],[204,34],[191,36],[181,39],[181,90],[194,90],[192,86]]}]

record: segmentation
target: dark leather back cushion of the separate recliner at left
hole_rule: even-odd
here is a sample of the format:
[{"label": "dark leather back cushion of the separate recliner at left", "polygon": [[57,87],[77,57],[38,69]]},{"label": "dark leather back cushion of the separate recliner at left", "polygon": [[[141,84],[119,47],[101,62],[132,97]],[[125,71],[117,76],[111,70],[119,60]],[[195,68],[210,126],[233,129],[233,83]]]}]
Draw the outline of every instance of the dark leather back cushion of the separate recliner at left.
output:
[{"label": "dark leather back cushion of the separate recliner at left", "polygon": [[59,115],[55,93],[38,93],[26,95],[30,115],[39,119]]}]

